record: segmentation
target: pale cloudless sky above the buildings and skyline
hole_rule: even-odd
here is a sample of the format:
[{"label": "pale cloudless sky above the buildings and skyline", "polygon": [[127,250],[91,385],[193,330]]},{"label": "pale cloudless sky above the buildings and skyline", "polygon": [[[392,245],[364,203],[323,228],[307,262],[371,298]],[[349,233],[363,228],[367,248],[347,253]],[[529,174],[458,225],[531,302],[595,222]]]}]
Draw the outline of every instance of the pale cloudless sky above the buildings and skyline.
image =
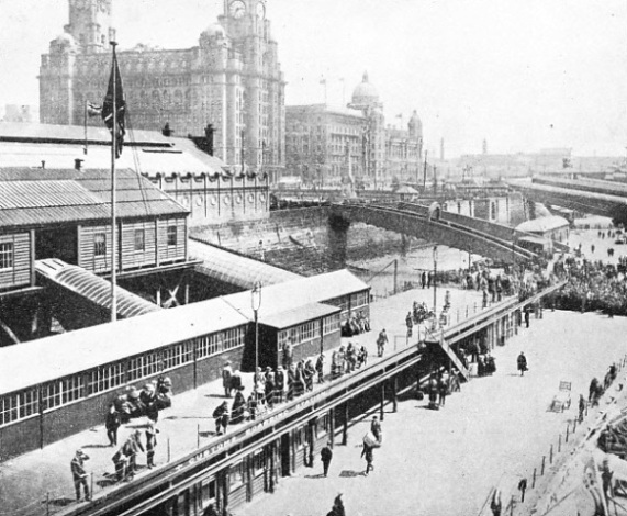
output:
[{"label": "pale cloudless sky above the buildings and skyline", "polygon": [[[121,49],[198,45],[223,5],[113,1]],[[324,102],[323,77],[328,104],[347,103],[367,70],[388,123],[418,112],[429,153],[627,153],[626,0],[267,0],[267,16],[288,105]],[[67,22],[67,0],[0,0],[0,106],[38,103]]]}]

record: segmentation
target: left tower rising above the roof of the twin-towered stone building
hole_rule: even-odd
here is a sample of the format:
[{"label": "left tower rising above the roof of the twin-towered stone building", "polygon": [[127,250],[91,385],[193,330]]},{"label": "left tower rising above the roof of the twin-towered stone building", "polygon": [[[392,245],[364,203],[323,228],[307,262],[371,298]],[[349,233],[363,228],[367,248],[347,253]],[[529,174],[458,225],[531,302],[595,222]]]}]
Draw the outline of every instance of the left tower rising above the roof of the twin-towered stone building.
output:
[{"label": "left tower rising above the roof of the twin-towered stone building", "polygon": [[74,36],[79,52],[109,52],[112,1],[69,0],[69,24],[65,26],[65,31]]}]

